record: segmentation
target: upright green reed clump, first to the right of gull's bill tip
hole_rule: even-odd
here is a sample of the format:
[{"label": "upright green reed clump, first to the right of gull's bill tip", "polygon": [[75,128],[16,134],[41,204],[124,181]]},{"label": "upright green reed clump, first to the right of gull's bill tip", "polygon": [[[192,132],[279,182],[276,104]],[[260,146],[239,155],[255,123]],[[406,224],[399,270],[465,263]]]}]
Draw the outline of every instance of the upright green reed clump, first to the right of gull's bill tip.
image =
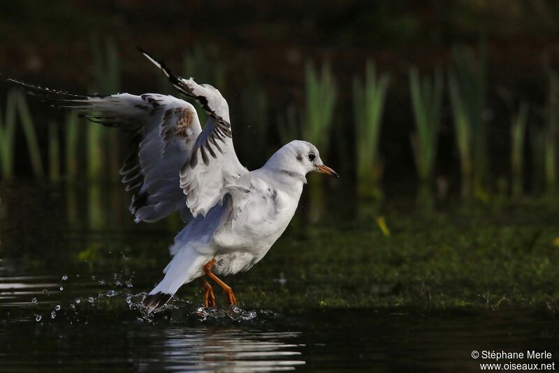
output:
[{"label": "upright green reed clump, first to the right of gull's bill tip", "polygon": [[365,82],[354,79],[357,190],[360,197],[378,197],[380,194],[379,137],[388,86],[389,75],[377,75],[371,61],[366,66]]}]

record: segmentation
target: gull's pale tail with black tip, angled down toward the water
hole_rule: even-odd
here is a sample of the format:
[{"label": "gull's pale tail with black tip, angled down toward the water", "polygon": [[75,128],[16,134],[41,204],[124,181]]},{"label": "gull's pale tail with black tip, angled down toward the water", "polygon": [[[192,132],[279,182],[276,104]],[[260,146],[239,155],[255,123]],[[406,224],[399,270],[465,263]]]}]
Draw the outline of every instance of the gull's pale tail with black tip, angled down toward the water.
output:
[{"label": "gull's pale tail with black tip, angled down toward the water", "polygon": [[147,312],[157,311],[173,297],[182,284],[187,284],[204,274],[203,266],[215,253],[208,247],[215,231],[231,211],[231,197],[225,195],[205,216],[198,215],[175,237],[170,247],[173,259],[166,266],[165,277],[143,300]]}]

